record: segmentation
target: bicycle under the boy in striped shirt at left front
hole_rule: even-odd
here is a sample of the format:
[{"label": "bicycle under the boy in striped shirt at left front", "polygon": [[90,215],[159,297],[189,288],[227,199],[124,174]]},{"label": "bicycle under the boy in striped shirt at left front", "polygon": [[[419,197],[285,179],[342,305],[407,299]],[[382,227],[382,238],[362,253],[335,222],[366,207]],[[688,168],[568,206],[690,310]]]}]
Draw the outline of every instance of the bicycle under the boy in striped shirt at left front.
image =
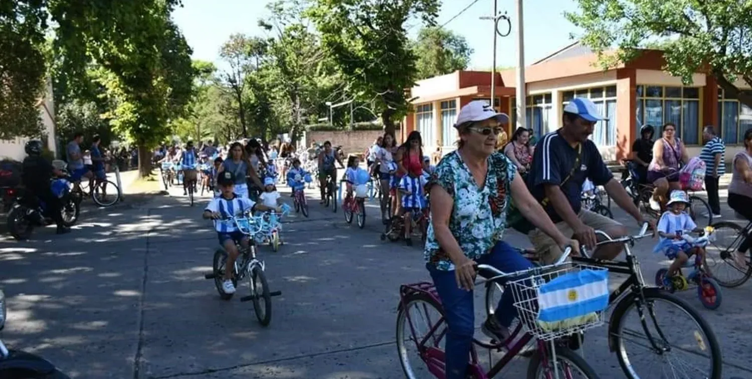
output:
[{"label": "bicycle under the boy in striped shirt at left front", "polygon": [[[268,326],[271,321],[271,297],[280,296],[282,292],[269,291],[266,275],[264,274],[266,265],[263,261],[256,259],[256,244],[254,243],[253,235],[259,232],[262,228],[262,223],[259,222],[260,220],[257,217],[251,217],[250,214],[244,214],[241,217],[229,217],[225,220],[232,220],[235,223],[235,227],[241,233],[250,237],[248,247],[243,247],[240,241],[235,241],[240,255],[235,260],[232,284],[237,288],[238,281],[246,277],[248,278],[250,295],[241,297],[240,301],[253,302],[253,311],[256,312],[256,318],[259,319],[259,323],[262,326]],[[204,275],[207,279],[214,279],[214,286],[217,287],[217,292],[220,293],[220,298],[223,300],[232,299],[233,295],[232,293],[225,293],[222,288],[226,260],[227,252],[220,247],[214,252],[214,270],[211,274]]]}]

